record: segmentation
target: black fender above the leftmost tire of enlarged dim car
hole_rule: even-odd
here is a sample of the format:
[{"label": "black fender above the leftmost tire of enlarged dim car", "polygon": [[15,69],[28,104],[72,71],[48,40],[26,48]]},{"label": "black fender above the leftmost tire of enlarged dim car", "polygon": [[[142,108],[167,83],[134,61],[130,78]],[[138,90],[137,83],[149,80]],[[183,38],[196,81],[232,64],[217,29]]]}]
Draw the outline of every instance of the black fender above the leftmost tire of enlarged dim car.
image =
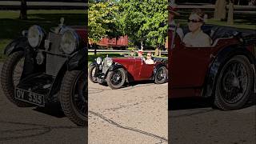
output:
[{"label": "black fender above the leftmost tire of enlarged dim car", "polygon": [[6,46],[4,54],[10,55],[19,50],[25,51],[26,46],[29,46],[29,42],[27,41],[26,37],[21,36],[19,38],[14,39]]}]

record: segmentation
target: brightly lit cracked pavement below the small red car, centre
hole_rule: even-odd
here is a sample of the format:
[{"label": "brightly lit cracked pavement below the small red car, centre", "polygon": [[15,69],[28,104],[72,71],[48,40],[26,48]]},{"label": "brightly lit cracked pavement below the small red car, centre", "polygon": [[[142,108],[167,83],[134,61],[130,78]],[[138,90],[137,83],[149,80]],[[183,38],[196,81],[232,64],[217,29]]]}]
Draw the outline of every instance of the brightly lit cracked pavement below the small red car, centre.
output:
[{"label": "brightly lit cracked pavement below the small red car, centre", "polygon": [[111,90],[89,82],[89,143],[167,143],[167,85],[145,82]]}]

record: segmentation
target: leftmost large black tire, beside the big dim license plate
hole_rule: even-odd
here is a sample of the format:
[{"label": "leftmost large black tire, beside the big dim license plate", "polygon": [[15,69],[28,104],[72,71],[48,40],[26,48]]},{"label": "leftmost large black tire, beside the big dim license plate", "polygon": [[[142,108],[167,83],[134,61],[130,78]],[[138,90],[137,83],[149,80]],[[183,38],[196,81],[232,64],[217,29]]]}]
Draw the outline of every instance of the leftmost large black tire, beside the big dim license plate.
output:
[{"label": "leftmost large black tire, beside the big dim license plate", "polygon": [[2,90],[10,102],[13,102],[16,106],[19,107],[28,107],[31,106],[30,103],[22,102],[14,98],[14,69],[18,62],[22,60],[22,58],[24,58],[23,51],[17,51],[13,54],[10,54],[10,56],[2,65],[1,84]]}]

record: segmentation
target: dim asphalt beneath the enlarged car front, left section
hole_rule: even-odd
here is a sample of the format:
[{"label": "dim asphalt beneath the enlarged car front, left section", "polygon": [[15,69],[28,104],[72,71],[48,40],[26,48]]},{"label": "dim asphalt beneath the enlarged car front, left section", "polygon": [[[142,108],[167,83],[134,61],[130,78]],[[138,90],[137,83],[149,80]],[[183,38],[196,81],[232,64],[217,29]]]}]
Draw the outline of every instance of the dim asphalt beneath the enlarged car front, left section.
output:
[{"label": "dim asphalt beneath the enlarged car front, left section", "polygon": [[18,108],[0,89],[0,144],[87,142],[87,129],[70,122],[58,106]]}]

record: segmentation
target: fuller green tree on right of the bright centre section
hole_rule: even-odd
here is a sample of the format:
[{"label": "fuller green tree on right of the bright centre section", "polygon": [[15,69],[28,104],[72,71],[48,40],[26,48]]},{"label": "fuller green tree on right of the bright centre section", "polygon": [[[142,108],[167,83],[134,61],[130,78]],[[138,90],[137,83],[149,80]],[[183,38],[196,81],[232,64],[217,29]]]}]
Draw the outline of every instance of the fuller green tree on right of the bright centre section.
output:
[{"label": "fuller green tree on right of the bright centre section", "polygon": [[167,33],[167,1],[121,0],[118,28],[135,45],[163,45]]}]

